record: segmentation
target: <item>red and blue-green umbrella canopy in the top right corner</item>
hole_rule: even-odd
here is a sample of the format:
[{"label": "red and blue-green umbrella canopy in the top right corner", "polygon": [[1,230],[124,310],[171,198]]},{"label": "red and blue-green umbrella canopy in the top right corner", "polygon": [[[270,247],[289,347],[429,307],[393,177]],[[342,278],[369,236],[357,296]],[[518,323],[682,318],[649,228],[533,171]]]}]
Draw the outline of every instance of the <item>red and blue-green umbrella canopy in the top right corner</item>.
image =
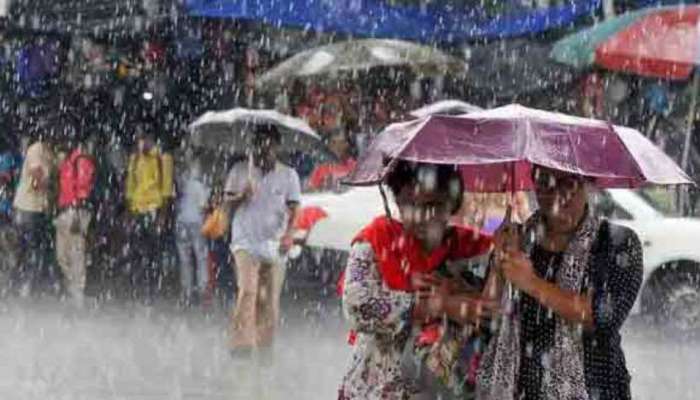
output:
[{"label": "red and blue-green umbrella canopy in the top right corner", "polygon": [[700,6],[626,13],[560,40],[550,56],[577,68],[595,64],[642,76],[685,80],[700,63]]}]

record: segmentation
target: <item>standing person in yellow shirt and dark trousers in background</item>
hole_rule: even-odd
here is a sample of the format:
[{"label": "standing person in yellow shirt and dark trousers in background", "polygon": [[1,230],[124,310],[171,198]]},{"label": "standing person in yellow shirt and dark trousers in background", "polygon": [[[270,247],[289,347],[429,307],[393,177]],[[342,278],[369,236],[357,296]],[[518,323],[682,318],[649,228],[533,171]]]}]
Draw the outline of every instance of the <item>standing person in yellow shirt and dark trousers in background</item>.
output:
[{"label": "standing person in yellow shirt and dark trousers in background", "polygon": [[150,133],[141,133],[129,157],[126,201],[132,216],[131,285],[134,294],[153,298],[158,286],[164,236],[168,230],[173,187],[173,157],[162,152]]}]

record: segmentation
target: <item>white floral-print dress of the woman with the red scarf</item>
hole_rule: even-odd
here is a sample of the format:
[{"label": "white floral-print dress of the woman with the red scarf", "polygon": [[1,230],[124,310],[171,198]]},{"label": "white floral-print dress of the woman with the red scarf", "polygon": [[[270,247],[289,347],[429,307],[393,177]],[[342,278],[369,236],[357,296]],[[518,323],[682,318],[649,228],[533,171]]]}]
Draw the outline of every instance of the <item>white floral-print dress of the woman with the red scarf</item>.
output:
[{"label": "white floral-print dress of the woman with the red scarf", "polygon": [[402,354],[411,337],[413,298],[384,284],[369,244],[353,246],[343,309],[357,338],[339,400],[411,399],[418,393],[401,373]]}]

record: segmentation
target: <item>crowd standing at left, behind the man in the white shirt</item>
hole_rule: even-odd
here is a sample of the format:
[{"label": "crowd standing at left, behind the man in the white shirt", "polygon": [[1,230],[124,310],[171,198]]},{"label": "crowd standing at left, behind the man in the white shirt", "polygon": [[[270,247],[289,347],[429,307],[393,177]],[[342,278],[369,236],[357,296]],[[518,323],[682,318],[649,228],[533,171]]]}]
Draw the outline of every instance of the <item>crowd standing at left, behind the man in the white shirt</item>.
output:
[{"label": "crowd standing at left, behind the man in the white shirt", "polygon": [[[199,233],[211,177],[192,150],[180,156],[152,125],[133,128],[122,157],[68,114],[37,122],[21,143],[4,136],[2,293],[82,305],[87,292],[152,301],[179,286],[183,304],[211,292],[210,243]],[[167,281],[178,275],[180,285]]]}]

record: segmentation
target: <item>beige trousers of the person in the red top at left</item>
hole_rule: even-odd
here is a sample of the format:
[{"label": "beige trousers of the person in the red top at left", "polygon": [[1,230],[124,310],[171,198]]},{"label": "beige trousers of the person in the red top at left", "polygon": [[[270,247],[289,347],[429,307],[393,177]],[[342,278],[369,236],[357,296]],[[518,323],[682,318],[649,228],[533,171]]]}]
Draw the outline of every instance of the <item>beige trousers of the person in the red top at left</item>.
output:
[{"label": "beige trousers of the person in the red top at left", "polygon": [[56,218],[56,259],[68,293],[82,299],[87,268],[87,233],[92,213],[69,208]]}]

